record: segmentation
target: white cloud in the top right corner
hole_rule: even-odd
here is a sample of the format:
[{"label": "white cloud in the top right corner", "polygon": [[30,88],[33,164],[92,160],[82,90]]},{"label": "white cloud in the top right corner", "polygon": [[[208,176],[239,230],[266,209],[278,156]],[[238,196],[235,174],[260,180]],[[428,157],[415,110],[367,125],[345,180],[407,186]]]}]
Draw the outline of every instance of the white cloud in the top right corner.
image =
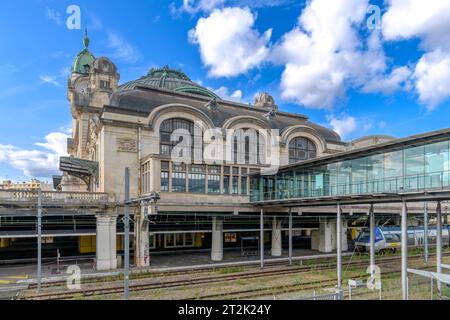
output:
[{"label": "white cloud in the top right corner", "polygon": [[388,0],[383,36],[399,41],[419,38],[426,51],[413,80],[419,101],[429,110],[450,98],[450,1]]}]

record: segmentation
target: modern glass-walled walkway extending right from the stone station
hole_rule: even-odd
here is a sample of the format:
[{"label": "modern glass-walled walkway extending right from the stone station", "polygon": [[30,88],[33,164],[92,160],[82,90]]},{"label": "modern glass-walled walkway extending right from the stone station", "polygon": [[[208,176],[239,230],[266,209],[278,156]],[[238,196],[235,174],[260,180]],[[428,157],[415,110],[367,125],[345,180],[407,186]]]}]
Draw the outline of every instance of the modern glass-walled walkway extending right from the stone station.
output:
[{"label": "modern glass-walled walkway extending right from the stone station", "polygon": [[274,176],[253,176],[251,201],[449,188],[449,137],[416,136],[289,165]]}]

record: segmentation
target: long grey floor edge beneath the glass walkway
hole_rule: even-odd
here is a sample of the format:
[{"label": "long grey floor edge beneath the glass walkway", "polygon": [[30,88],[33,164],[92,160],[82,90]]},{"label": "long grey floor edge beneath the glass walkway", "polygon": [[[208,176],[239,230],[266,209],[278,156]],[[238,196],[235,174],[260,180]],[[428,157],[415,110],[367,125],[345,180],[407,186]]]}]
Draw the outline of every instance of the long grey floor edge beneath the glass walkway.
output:
[{"label": "long grey floor edge beneath the glass walkway", "polygon": [[347,196],[326,196],[317,198],[295,198],[285,200],[266,200],[253,202],[255,206],[267,207],[327,207],[341,205],[357,205],[357,204],[381,204],[381,203],[398,203],[398,202],[424,202],[424,201],[449,201],[450,189],[446,190],[429,190],[418,192],[402,192],[402,193],[372,193],[367,195],[347,195]]}]

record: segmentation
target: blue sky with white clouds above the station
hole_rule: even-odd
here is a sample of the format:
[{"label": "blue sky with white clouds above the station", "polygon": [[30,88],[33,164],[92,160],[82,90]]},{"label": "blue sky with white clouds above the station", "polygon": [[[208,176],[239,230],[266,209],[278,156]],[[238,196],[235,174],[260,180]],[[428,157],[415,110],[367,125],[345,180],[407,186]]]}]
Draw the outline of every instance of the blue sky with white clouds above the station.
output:
[{"label": "blue sky with white clouds above the station", "polygon": [[[381,9],[369,29],[369,5]],[[81,9],[69,30],[67,7]],[[425,7],[424,7],[425,6]],[[271,93],[346,141],[449,127],[450,0],[16,0],[2,4],[0,180],[57,173],[71,115],[69,68],[83,48],[121,82],[182,68],[222,97]]]}]

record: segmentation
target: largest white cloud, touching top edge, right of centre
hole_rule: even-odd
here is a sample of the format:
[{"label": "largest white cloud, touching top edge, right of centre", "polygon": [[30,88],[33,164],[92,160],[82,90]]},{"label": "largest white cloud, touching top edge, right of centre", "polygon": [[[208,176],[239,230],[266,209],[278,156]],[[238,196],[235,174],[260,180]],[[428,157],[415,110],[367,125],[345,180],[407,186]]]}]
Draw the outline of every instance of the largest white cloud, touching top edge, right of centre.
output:
[{"label": "largest white cloud, touching top edge, right of centre", "polygon": [[[364,41],[367,0],[312,0],[284,35],[272,61],[285,65],[281,97],[310,108],[331,108],[348,86],[360,88],[386,70],[376,31]],[[363,49],[366,48],[366,49]]]}]

